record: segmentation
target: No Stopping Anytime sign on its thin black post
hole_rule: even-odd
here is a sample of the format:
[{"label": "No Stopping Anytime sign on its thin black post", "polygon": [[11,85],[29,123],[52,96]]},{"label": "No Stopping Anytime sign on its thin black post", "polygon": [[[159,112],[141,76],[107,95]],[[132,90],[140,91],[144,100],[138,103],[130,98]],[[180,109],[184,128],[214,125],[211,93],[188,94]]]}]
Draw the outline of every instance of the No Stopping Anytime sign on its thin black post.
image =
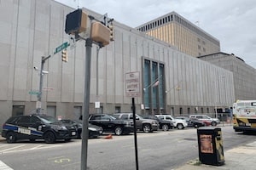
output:
[{"label": "No Stopping Anytime sign on its thin black post", "polygon": [[133,115],[133,131],[134,131],[134,146],[136,169],[138,170],[137,156],[137,127],[136,127],[136,108],[134,97],[140,97],[140,72],[129,72],[125,74],[125,94],[126,97],[131,97],[132,115]]}]

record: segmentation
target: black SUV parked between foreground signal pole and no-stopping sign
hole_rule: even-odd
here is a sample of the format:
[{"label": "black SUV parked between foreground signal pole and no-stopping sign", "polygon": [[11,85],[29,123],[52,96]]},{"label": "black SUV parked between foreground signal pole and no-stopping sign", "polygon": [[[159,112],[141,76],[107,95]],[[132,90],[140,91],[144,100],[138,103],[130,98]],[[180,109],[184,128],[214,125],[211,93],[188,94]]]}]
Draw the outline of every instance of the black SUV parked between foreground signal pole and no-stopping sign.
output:
[{"label": "black SUV parked between foreground signal pole and no-stopping sign", "polygon": [[102,127],[105,133],[115,133],[116,135],[128,134],[133,132],[133,126],[130,121],[118,120],[108,114],[91,114],[89,122],[93,125]]}]

